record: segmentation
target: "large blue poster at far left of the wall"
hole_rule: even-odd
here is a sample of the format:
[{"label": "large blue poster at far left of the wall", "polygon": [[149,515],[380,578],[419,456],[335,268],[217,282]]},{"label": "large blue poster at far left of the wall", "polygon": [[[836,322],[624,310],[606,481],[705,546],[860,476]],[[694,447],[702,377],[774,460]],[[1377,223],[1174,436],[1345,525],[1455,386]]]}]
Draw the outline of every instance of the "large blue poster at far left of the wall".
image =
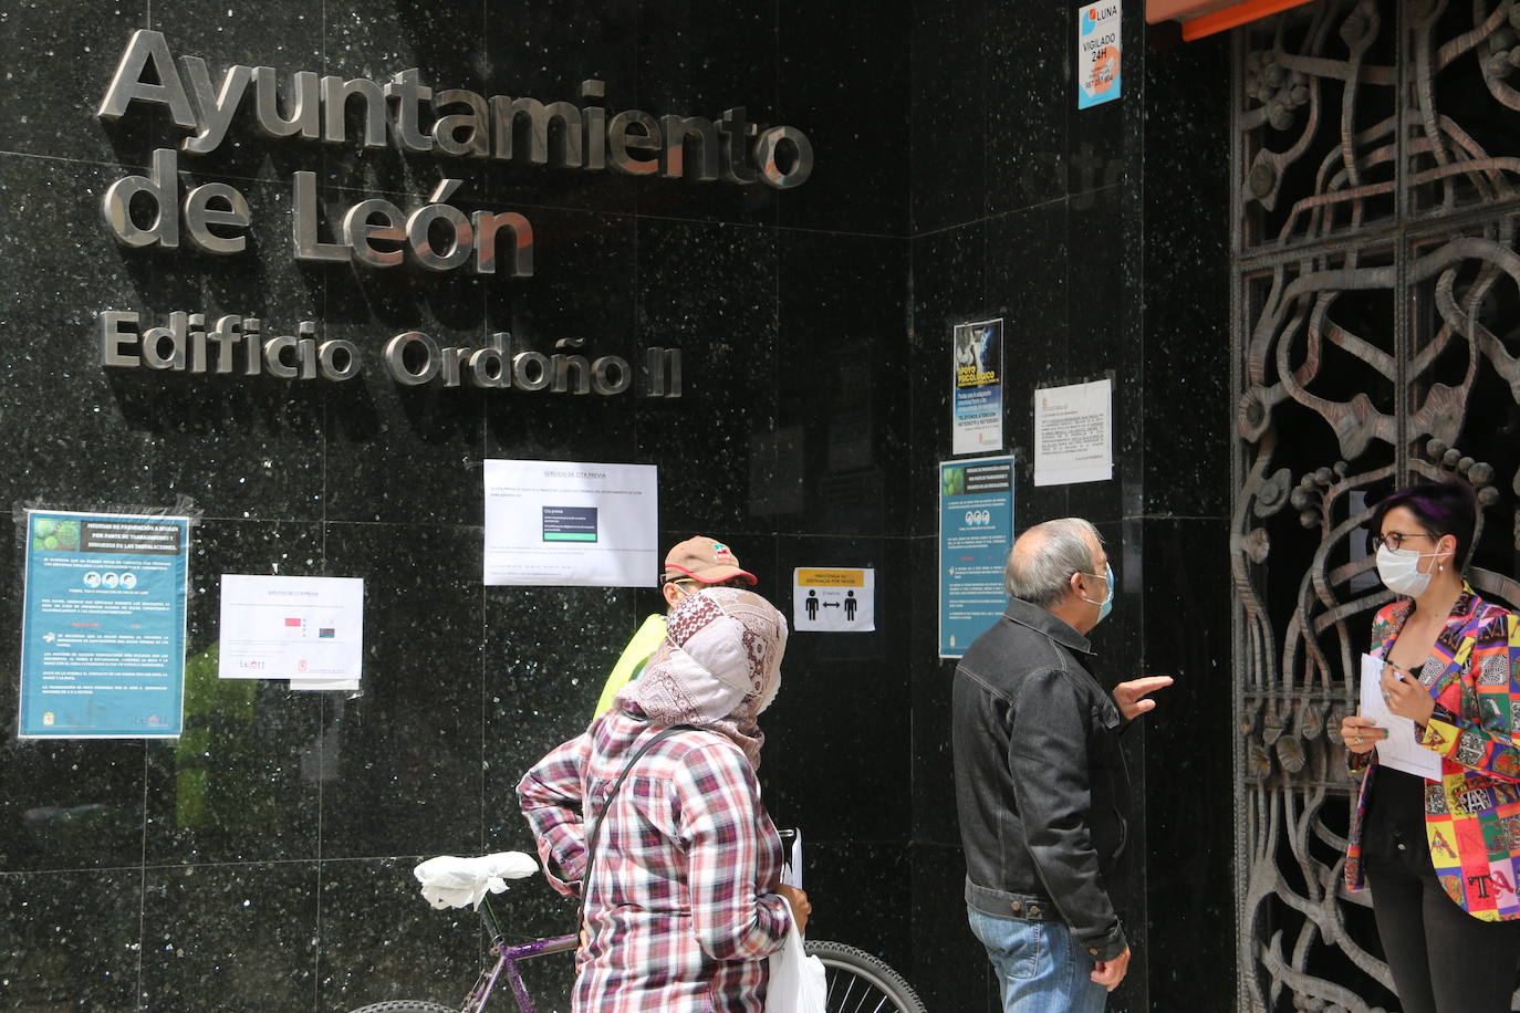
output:
[{"label": "large blue poster at far left of the wall", "polygon": [[27,510],[21,738],[173,738],[190,519]]}]

